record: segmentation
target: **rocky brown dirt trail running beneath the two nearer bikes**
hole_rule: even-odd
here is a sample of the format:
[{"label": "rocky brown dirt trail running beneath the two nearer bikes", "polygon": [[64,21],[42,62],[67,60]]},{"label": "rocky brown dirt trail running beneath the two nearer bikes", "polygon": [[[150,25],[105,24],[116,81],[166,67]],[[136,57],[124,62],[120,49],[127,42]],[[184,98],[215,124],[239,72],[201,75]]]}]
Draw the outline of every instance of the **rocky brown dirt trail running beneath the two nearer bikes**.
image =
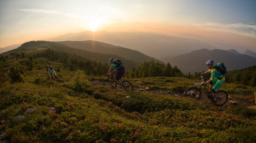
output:
[{"label": "rocky brown dirt trail running beneath the two nearer bikes", "polygon": [[[111,88],[111,89],[115,90],[117,93],[126,92],[123,88],[120,88],[119,85],[117,85],[116,88],[111,87],[109,85],[109,83],[106,81],[93,80],[91,82],[94,85],[102,85],[102,86],[106,86],[107,88]],[[173,91],[166,91],[166,90],[146,90],[146,89],[143,89],[140,87],[134,87],[134,91],[149,92],[149,93],[154,93],[154,94],[159,94],[159,95],[167,95],[167,96],[172,96],[172,97],[184,97],[183,93],[174,93]],[[248,106],[253,105],[253,102],[251,101],[252,100],[251,95],[229,94],[229,96],[232,99],[228,99],[226,104],[224,104],[221,107],[218,107],[215,104],[211,103],[211,101],[207,97],[206,93],[204,93],[204,91],[202,90],[202,96],[201,96],[200,100],[198,100],[197,102],[203,102],[204,104],[209,105],[209,107],[214,110],[220,110],[220,109],[224,110],[224,109],[233,108],[233,107],[245,107],[246,108]],[[184,97],[184,98],[186,98],[186,97]],[[232,103],[232,101],[234,101],[236,103]]]}]

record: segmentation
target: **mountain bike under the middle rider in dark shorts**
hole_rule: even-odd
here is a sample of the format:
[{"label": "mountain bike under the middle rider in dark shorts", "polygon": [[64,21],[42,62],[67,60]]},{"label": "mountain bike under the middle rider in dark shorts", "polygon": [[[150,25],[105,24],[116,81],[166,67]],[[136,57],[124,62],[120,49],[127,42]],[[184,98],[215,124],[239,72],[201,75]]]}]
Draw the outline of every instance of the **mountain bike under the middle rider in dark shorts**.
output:
[{"label": "mountain bike under the middle rider in dark shorts", "polygon": [[[110,76],[108,77],[108,83],[110,84],[110,86],[112,86],[112,87],[116,87],[117,86],[117,84],[116,84],[116,80],[115,80],[115,76],[116,76],[116,74],[115,74],[115,72],[116,72],[117,70],[114,70],[114,71],[112,71],[111,73],[110,73]],[[124,85],[123,87],[124,87],[124,89],[126,90],[126,91],[132,91],[133,90],[133,86],[132,86],[132,84],[129,82],[129,81],[127,81],[127,80],[123,80],[122,79],[122,77],[121,77],[121,81],[122,81],[122,84]]]}]

